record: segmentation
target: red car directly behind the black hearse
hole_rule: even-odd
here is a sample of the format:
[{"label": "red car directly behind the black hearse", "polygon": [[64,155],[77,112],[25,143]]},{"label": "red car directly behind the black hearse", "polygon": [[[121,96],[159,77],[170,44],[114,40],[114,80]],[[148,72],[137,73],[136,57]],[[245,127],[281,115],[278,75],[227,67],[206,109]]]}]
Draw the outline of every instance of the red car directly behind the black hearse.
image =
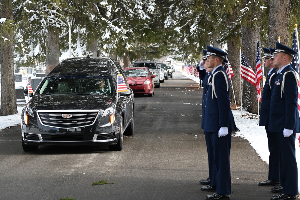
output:
[{"label": "red car directly behind the black hearse", "polygon": [[154,95],[155,75],[151,75],[147,67],[124,68],[124,72],[134,94]]}]

